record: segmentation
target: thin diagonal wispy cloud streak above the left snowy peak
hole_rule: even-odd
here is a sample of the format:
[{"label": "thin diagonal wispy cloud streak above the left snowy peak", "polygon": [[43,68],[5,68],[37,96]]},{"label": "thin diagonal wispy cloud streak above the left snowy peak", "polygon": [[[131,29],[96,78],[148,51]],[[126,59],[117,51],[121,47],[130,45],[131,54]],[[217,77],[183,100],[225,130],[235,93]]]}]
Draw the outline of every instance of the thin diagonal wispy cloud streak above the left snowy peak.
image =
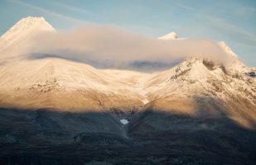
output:
[{"label": "thin diagonal wispy cloud streak above the left snowy peak", "polygon": [[11,0],[11,2],[16,3],[17,5],[22,5],[23,7],[28,7],[30,9],[36,10],[37,12],[41,12],[44,13],[46,15],[50,15],[50,16],[54,16],[58,19],[61,19],[63,21],[68,21],[68,22],[72,22],[72,23],[76,23],[76,24],[83,24],[83,23],[87,23],[86,21],[71,17],[71,16],[65,16],[62,15],[60,13],[51,11],[49,9],[43,8],[43,7],[37,7],[36,5],[33,5],[31,3],[28,2],[22,2],[22,1],[17,1],[17,0]]}]

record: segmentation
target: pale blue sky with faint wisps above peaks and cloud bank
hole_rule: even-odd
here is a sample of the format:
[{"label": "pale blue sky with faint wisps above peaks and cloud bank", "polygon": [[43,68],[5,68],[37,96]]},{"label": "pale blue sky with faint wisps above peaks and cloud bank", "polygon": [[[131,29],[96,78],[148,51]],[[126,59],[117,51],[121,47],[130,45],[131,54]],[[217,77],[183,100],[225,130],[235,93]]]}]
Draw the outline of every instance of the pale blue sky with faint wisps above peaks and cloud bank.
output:
[{"label": "pale blue sky with faint wisps above peaks and cloud bank", "polygon": [[0,35],[26,16],[44,16],[61,30],[89,22],[151,37],[175,31],[181,37],[224,40],[256,67],[254,0],[0,0]]}]

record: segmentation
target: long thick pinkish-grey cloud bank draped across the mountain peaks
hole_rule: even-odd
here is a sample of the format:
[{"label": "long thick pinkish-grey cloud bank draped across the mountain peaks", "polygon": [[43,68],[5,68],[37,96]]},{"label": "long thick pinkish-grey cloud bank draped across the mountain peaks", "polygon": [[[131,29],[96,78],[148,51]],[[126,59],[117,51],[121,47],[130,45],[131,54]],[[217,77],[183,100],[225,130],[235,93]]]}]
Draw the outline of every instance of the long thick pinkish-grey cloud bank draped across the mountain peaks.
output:
[{"label": "long thick pinkish-grey cloud bank draped across the mountain peaks", "polygon": [[70,32],[43,33],[36,35],[31,43],[31,58],[43,58],[45,55],[81,62],[95,61],[99,64],[134,61],[171,63],[187,57],[228,64],[231,59],[212,40],[157,40],[123,31],[116,26],[80,26]]}]

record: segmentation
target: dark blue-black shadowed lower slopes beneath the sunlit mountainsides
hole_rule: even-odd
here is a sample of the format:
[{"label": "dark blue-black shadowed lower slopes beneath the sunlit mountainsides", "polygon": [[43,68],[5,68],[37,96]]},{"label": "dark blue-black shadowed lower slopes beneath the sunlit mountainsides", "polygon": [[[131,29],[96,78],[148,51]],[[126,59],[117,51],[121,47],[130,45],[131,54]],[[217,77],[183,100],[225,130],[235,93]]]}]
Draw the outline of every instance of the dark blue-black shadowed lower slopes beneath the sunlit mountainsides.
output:
[{"label": "dark blue-black shadowed lower slopes beneath the sunlit mountainsides", "polygon": [[0,110],[0,164],[256,164],[256,132],[227,117]]}]

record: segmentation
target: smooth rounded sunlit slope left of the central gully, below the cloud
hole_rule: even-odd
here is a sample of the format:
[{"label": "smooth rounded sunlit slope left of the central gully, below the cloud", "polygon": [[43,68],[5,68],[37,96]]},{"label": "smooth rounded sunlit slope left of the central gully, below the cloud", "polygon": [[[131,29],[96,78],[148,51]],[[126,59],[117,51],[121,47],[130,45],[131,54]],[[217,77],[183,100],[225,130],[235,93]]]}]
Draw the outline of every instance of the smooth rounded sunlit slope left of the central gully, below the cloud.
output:
[{"label": "smooth rounded sunlit slope left of the central gully, below the cloud", "polygon": [[86,64],[39,59],[9,64],[0,70],[2,106],[73,111],[142,106],[140,95],[126,83]]}]

